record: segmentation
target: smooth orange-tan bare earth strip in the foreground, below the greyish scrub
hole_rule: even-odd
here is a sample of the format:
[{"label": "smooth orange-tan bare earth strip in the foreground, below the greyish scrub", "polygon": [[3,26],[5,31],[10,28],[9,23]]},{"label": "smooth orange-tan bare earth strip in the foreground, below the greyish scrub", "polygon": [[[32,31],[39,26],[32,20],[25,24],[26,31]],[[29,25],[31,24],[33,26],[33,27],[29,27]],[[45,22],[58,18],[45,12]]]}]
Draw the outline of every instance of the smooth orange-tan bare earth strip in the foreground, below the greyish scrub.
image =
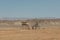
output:
[{"label": "smooth orange-tan bare earth strip in the foreground, below the greyish scrub", "polygon": [[60,40],[60,28],[40,30],[0,29],[0,40]]}]

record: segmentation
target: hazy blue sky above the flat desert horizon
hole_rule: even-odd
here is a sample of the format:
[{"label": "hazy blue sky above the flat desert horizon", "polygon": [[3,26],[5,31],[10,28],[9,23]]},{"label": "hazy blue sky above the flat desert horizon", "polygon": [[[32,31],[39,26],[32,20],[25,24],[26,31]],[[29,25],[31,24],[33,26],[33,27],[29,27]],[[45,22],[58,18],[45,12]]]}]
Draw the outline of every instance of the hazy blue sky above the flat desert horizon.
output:
[{"label": "hazy blue sky above the flat desert horizon", "polygon": [[0,0],[0,17],[60,17],[60,0]]}]

